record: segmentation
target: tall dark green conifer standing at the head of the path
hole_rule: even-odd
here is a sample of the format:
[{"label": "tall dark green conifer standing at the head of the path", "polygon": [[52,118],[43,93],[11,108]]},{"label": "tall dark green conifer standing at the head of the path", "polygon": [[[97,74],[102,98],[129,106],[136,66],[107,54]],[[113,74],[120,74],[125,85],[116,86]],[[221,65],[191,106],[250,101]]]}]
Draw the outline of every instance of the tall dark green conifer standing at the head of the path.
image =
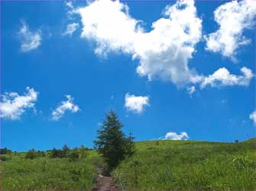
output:
[{"label": "tall dark green conifer standing at the head of the path", "polygon": [[98,140],[94,141],[94,145],[105,158],[109,170],[112,170],[125,158],[125,155],[131,155],[134,152],[134,138],[131,135],[128,138],[125,137],[122,132],[123,125],[114,111],[109,111],[105,118],[102,128],[98,130]]}]

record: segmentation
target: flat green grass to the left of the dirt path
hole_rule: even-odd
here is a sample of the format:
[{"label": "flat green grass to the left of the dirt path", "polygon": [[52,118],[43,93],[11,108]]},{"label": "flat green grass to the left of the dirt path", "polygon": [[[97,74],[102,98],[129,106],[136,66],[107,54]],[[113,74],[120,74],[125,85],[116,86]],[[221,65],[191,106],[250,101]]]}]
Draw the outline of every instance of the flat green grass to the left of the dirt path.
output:
[{"label": "flat green grass to the left of the dirt path", "polygon": [[2,154],[8,160],[1,161],[0,189],[92,189],[97,176],[93,164],[102,164],[102,158],[96,151],[88,153],[86,159],[74,161],[47,156],[31,160],[24,159],[24,153]]}]

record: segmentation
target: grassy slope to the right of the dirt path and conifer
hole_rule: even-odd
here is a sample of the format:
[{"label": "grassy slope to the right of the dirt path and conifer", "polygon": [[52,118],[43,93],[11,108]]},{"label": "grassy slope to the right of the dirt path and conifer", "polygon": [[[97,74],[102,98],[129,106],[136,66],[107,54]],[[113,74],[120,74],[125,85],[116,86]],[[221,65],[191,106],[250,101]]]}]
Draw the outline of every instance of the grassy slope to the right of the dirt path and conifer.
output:
[{"label": "grassy slope to the right of the dirt path and conifer", "polygon": [[137,142],[113,175],[126,189],[255,190],[255,142]]}]

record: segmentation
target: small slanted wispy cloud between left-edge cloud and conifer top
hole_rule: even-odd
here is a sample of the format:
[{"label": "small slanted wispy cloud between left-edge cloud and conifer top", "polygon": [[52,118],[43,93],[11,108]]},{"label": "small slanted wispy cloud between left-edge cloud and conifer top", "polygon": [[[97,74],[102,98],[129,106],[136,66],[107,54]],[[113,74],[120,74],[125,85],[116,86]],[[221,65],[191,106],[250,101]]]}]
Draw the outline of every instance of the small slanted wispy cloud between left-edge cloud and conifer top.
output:
[{"label": "small slanted wispy cloud between left-edge cloud and conifer top", "polygon": [[66,101],[62,101],[60,105],[53,110],[52,112],[52,119],[58,120],[60,117],[62,117],[67,110],[70,110],[72,113],[78,112],[80,109],[78,105],[73,103],[74,98],[70,95],[66,95]]}]

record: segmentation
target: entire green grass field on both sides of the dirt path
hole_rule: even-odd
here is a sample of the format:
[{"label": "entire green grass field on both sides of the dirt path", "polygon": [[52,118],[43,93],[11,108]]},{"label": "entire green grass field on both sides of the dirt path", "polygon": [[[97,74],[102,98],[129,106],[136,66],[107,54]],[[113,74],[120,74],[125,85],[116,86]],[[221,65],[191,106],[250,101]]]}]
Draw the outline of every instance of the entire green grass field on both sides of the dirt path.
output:
[{"label": "entire green grass field on both sides of the dirt path", "polygon": [[[136,152],[112,171],[125,189],[255,190],[255,142],[136,142]],[[86,190],[105,163],[96,151],[85,159],[2,154],[1,190]]]}]

